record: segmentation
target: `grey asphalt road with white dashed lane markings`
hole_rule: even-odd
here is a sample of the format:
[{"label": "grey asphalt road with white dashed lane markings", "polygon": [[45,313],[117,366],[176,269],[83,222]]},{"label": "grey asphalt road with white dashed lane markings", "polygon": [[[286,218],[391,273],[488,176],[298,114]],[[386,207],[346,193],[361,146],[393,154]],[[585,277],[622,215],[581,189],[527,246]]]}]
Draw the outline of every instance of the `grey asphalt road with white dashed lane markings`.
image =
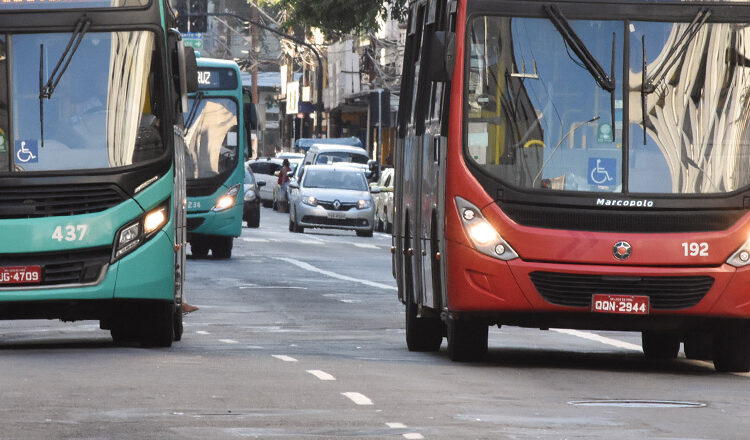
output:
[{"label": "grey asphalt road with white dashed lane markings", "polygon": [[189,260],[200,310],[172,348],[2,321],[0,439],[750,437],[750,375],[646,361],[637,334],[503,327],[481,363],[410,353],[389,250],[263,209],[231,260]]}]

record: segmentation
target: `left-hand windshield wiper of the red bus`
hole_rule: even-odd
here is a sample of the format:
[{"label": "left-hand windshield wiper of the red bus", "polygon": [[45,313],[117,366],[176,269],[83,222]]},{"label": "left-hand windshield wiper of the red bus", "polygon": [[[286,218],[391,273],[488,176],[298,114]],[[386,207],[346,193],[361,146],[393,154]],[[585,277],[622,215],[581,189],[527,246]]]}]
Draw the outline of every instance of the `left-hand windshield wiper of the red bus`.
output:
[{"label": "left-hand windshield wiper of the red bus", "polygon": [[573,27],[570,26],[570,22],[565,18],[563,13],[558,9],[557,6],[545,5],[544,11],[549,16],[550,21],[557,32],[563,37],[565,43],[570,47],[576,56],[583,62],[583,66],[588,70],[591,76],[594,78],[599,87],[606,90],[610,94],[610,111],[611,111],[611,122],[612,128],[615,127],[615,48],[616,48],[616,35],[612,33],[612,63],[610,66],[610,73],[604,70],[596,57],[589,51],[583,40],[576,34]]}]

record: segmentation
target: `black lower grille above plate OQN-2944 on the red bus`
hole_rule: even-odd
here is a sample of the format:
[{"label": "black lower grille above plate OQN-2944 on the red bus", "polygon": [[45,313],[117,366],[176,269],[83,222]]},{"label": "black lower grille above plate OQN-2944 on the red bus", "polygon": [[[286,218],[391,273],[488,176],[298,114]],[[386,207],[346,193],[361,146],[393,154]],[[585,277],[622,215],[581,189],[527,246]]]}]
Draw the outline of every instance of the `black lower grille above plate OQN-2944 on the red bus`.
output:
[{"label": "black lower grille above plate OQN-2944 on the red bus", "polygon": [[698,304],[714,284],[708,276],[620,277],[554,272],[532,272],[529,276],[545,300],[570,307],[591,307],[591,297],[603,293],[648,296],[655,310],[684,309]]}]

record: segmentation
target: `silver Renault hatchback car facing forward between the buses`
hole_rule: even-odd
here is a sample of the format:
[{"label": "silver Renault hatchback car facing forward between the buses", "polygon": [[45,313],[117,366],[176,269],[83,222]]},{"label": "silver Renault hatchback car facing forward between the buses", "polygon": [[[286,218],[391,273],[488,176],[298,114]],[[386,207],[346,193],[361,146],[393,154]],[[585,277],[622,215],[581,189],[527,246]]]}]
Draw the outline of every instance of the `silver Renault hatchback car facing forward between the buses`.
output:
[{"label": "silver Renault hatchback car facing forward between the buses", "polygon": [[308,165],[302,181],[290,183],[289,189],[290,231],[348,229],[360,237],[372,237],[375,208],[361,169]]}]

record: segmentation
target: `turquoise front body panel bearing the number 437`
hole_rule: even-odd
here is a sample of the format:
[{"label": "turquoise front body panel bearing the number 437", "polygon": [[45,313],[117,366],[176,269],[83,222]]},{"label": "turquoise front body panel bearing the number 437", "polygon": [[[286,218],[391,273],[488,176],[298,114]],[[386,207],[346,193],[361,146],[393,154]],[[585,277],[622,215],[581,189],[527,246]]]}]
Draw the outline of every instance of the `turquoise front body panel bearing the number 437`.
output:
[{"label": "turquoise front body panel bearing the number 437", "polygon": [[[106,253],[104,275],[95,282],[73,285],[0,287],[0,302],[49,300],[105,300],[113,298],[174,298],[174,213],[171,194],[172,171],[105,211],[68,217],[0,220],[0,255],[45,256],[65,252]],[[170,205],[168,222],[130,254],[111,262],[112,247],[120,228],[140,218],[163,202]],[[6,263],[7,265],[7,263]]]}]

